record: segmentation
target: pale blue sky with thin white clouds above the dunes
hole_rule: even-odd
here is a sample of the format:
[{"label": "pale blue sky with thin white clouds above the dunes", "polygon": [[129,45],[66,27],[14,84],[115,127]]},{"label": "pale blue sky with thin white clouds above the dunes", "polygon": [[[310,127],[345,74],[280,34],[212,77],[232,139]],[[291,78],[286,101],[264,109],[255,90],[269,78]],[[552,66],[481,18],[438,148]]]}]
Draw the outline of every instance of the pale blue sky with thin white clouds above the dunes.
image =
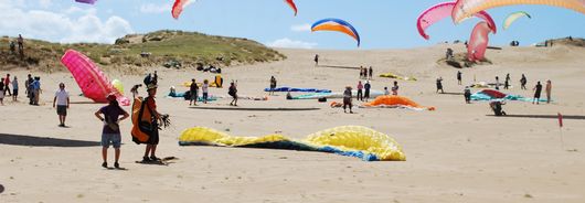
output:
[{"label": "pale blue sky with thin white clouds above the dunes", "polygon": [[[416,30],[418,14],[442,0],[296,0],[298,17],[283,0],[198,0],[180,20],[170,15],[173,0],[98,0],[95,6],[74,0],[0,0],[0,34],[57,42],[109,42],[127,33],[185,30],[247,38],[264,44],[290,47],[354,50],[353,39],[340,33],[310,33],[307,26],[325,18],[352,23],[362,38],[360,49],[406,49],[443,41],[467,40],[477,19],[454,25],[450,19],[430,26],[430,40]],[[507,14],[526,11],[508,31]],[[551,38],[585,38],[585,15],[545,6],[517,6],[488,10],[498,24],[491,45],[518,40],[529,45]]]}]

